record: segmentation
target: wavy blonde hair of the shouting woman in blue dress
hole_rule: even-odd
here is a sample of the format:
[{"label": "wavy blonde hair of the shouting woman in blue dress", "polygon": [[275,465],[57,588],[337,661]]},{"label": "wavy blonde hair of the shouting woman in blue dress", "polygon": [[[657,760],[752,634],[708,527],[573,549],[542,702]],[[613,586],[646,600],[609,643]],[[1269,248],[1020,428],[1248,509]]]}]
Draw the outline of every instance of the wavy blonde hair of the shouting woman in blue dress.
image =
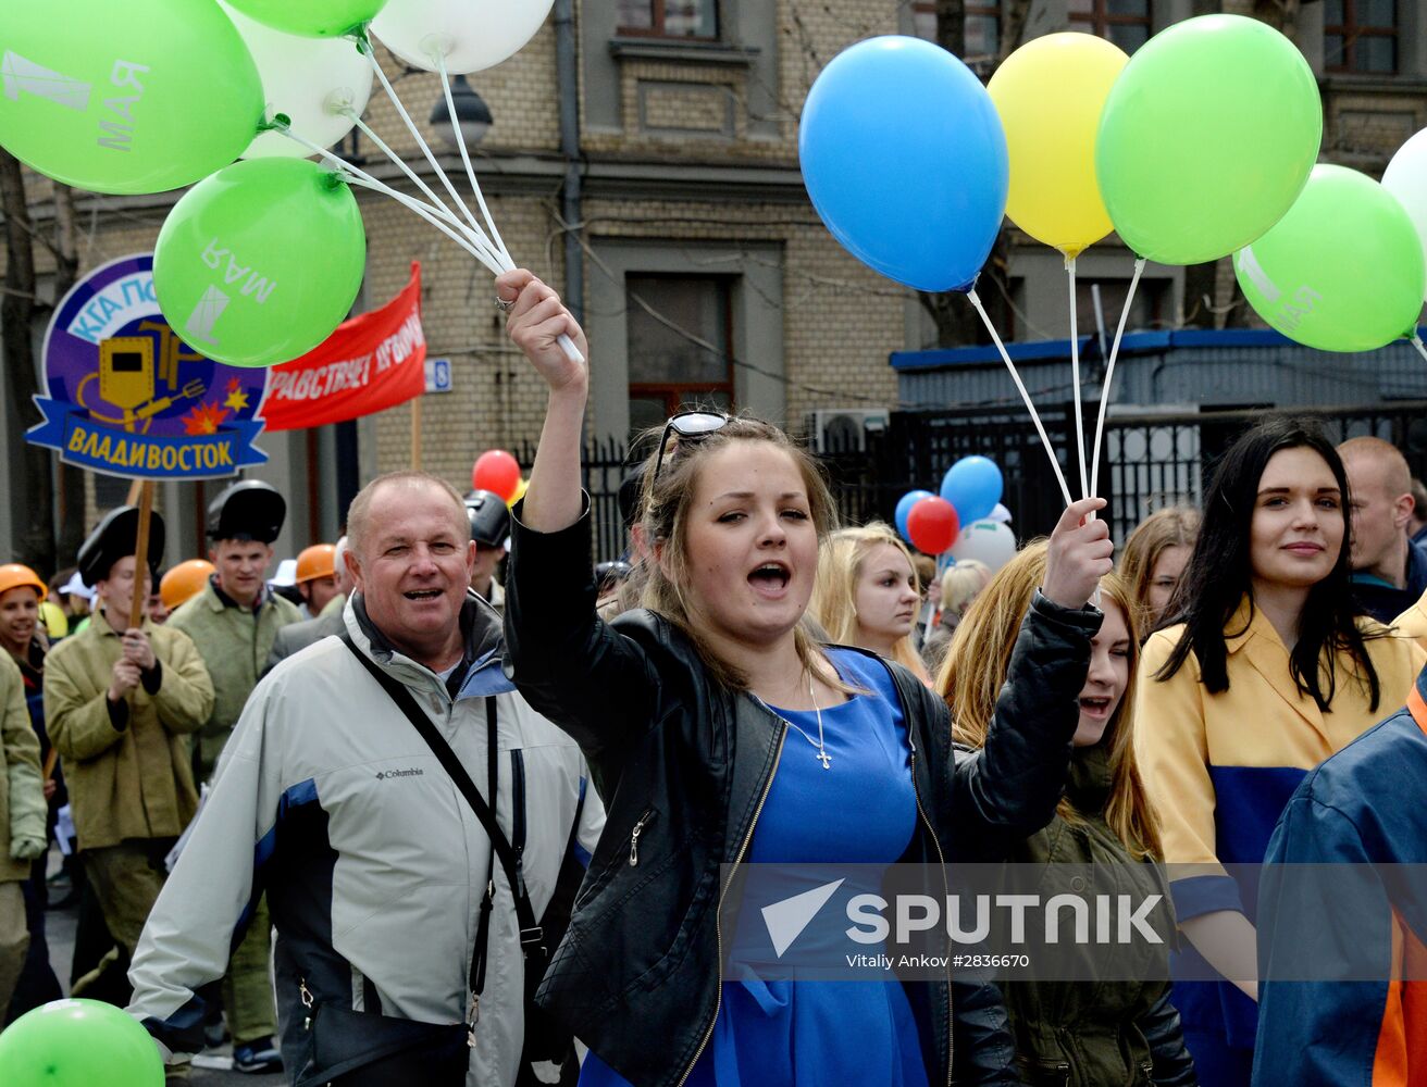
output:
[{"label": "wavy blonde hair of the shouting woman in blue dress", "polygon": [[[652,434],[654,445],[658,446],[659,431]],[[689,601],[684,589],[689,582],[689,506],[694,504],[699,472],[714,452],[731,442],[768,442],[792,458],[799,475],[802,475],[803,486],[808,489],[808,508],[819,542],[836,529],[838,506],[818,461],[806,449],[793,445],[792,439],[778,427],[762,419],[736,415],[716,431],[682,441],[675,438],[665,451],[662,466],[654,464],[658,452],[649,455],[639,502],[639,526],[648,544],[639,571],[639,576],[644,579],[639,605],[666,618],[694,642],[711,679],[732,690],[746,690],[748,676],[742,669],[715,653],[708,639],[699,632],[699,625],[691,615]],[[658,472],[655,472],[656,468]],[[655,549],[659,551],[659,561],[654,558]],[[793,643],[803,668],[815,675],[822,675],[825,680],[842,689],[842,683],[835,675],[825,675],[813,639],[801,622],[793,631]]]}]

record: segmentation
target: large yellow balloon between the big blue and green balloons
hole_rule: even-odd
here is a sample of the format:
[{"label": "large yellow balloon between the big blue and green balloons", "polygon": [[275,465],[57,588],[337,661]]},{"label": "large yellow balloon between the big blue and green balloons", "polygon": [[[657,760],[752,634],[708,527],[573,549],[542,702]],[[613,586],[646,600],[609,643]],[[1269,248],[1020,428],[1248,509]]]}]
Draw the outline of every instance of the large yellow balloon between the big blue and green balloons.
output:
[{"label": "large yellow balloon between the big blue and green balloons", "polygon": [[1095,134],[1129,60],[1093,34],[1046,34],[1006,57],[986,86],[1010,155],[1006,215],[1066,260],[1113,228],[1095,180]]}]

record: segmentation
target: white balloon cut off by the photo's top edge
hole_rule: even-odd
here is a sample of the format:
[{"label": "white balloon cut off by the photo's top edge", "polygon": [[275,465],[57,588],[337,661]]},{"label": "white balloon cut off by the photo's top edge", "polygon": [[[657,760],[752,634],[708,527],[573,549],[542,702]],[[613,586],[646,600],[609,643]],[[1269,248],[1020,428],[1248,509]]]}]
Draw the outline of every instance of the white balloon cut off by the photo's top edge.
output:
[{"label": "white balloon cut off by the photo's top edge", "polygon": [[425,71],[469,74],[515,56],[554,0],[390,0],[371,23],[381,43]]}]

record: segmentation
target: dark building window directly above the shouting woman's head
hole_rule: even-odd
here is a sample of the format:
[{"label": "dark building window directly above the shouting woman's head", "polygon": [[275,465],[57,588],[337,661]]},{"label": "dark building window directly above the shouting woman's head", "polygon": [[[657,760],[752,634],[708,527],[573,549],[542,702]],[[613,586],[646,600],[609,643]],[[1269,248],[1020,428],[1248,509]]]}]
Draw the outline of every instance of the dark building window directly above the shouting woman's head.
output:
[{"label": "dark building window directly above the shouting woman's head", "polygon": [[732,409],[731,287],[719,277],[625,277],[631,434],[682,407]]}]

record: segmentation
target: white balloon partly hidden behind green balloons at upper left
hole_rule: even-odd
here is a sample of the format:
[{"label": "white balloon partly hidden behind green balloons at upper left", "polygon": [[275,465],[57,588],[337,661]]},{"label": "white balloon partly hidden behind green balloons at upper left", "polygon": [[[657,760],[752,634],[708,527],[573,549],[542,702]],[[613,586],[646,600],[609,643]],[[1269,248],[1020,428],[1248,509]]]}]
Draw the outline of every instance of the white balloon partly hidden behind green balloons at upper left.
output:
[{"label": "white balloon partly hidden behind green balloons at upper left", "polygon": [[[331,147],[352,130],[371,97],[371,61],[350,39],[284,34],[220,4],[243,36],[263,78],[268,117],[287,114],[297,136]],[[314,154],[281,133],[258,133],[243,158],[305,158]]]}]

